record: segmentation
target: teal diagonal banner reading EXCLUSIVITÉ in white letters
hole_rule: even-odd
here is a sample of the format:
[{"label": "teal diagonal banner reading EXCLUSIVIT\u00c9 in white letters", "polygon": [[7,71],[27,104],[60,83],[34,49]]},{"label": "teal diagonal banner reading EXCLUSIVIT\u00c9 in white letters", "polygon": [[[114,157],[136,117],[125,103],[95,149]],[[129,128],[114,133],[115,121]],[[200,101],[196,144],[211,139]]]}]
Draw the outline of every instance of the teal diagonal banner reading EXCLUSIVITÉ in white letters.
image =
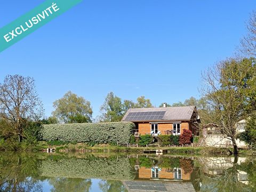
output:
[{"label": "teal diagonal banner reading EXCLUSIVIT\u00c9 in white letters", "polygon": [[17,43],[39,27],[82,0],[46,0],[35,9],[0,29],[0,52]]}]

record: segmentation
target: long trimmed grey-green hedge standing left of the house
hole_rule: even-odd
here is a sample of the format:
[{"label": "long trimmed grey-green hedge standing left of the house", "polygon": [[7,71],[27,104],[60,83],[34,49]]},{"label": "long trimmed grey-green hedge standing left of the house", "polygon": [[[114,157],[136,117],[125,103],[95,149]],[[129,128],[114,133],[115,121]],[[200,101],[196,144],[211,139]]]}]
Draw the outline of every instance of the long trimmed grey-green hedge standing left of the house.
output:
[{"label": "long trimmed grey-green hedge standing left of the house", "polygon": [[126,144],[134,128],[131,122],[50,124],[43,125],[41,134],[46,141]]}]

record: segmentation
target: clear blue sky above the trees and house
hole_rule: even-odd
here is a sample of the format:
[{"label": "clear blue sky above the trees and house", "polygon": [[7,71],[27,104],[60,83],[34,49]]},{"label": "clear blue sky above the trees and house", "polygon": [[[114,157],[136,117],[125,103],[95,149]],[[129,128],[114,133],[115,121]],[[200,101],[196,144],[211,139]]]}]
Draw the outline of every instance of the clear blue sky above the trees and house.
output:
[{"label": "clear blue sky above the trees and house", "polygon": [[[0,27],[43,0],[0,1]],[[7,74],[31,76],[45,115],[72,91],[99,115],[108,92],[154,106],[199,98],[201,71],[234,54],[255,1],[84,0],[0,53]]]}]

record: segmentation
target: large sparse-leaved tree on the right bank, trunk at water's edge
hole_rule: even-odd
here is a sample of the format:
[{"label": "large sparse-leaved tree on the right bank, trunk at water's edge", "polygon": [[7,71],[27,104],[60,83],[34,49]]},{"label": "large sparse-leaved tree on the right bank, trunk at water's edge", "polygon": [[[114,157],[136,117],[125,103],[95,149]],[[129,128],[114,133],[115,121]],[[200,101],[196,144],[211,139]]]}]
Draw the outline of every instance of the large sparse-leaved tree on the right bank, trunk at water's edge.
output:
[{"label": "large sparse-leaved tree on the right bank, trunk at water's edge", "polygon": [[255,97],[256,65],[254,59],[228,59],[209,68],[202,78],[202,93],[210,106],[211,114],[205,118],[219,125],[220,132],[236,144],[236,123],[250,116]]}]

